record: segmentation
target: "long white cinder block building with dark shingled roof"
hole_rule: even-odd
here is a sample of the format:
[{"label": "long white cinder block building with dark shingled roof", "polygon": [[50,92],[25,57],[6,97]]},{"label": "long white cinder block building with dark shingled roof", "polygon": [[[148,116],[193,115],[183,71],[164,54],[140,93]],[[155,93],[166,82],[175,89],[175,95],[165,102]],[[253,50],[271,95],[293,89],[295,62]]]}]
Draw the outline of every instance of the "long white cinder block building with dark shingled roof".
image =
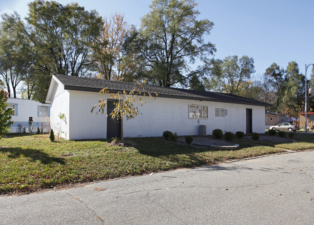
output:
[{"label": "long white cinder block building with dark shingled roof", "polygon": [[[46,96],[46,103],[51,104],[51,128],[69,140],[121,136],[119,121],[114,123],[106,113],[96,114],[98,108],[90,112],[100,99],[110,99],[110,94],[99,93],[101,89],[107,87],[117,93],[131,91],[133,86],[127,82],[53,74]],[[142,96],[146,101],[143,107],[138,104],[142,115],[130,120],[123,118],[124,137],[162,136],[165,130],[178,135],[198,135],[200,125],[206,126],[207,135],[216,128],[233,133],[265,132],[265,106],[269,104],[264,102],[226,93],[143,87],[143,92],[156,92],[158,96],[153,99]],[[112,101],[108,101],[108,114],[110,109]],[[65,115],[64,120],[59,118],[60,113]]]}]

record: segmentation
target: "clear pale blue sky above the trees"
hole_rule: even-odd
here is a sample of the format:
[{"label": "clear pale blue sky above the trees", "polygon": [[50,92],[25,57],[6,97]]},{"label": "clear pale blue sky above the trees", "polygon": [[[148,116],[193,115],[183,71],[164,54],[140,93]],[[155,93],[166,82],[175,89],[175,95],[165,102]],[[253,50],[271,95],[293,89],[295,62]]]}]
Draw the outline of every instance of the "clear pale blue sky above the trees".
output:
[{"label": "clear pale blue sky above the trees", "polygon": [[[0,13],[28,13],[25,0],[0,0]],[[72,1],[59,0],[62,4]],[[75,1],[74,1],[75,2]],[[130,24],[140,25],[149,12],[151,0],[77,0],[85,9],[96,9],[100,15],[120,11]],[[263,74],[273,62],[284,68],[289,61],[314,63],[313,0],[197,0],[199,19],[215,25],[206,40],[216,44],[215,58],[248,55],[254,58],[256,74]],[[308,79],[311,66],[307,71]]]}]

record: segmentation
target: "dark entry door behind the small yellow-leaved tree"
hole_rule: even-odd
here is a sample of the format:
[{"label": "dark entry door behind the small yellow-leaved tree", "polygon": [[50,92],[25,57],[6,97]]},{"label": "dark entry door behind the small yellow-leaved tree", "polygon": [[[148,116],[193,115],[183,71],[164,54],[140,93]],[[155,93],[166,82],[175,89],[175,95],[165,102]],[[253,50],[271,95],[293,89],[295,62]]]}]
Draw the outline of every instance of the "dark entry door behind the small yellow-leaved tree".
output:
[{"label": "dark entry door behind the small yellow-leaved tree", "polygon": [[115,105],[113,103],[114,101],[107,101],[107,138],[121,137],[121,120],[112,120],[111,116],[109,116],[109,114],[115,108]]}]

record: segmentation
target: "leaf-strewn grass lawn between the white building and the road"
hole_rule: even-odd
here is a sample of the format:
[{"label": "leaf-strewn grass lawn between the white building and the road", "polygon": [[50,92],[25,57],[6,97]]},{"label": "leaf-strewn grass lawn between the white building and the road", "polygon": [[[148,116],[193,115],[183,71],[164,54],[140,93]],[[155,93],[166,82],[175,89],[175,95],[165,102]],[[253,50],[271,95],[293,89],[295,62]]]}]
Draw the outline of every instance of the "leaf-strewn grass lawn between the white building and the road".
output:
[{"label": "leaf-strewn grass lawn between the white building and the road", "polygon": [[[265,134],[267,135],[267,134]],[[51,142],[48,134],[11,134],[0,140],[0,194],[32,192],[222,160],[314,148],[314,136],[297,134],[297,143],[235,139],[240,150],[214,151],[164,141],[162,137],[129,138],[136,147],[111,146],[111,140]]]}]

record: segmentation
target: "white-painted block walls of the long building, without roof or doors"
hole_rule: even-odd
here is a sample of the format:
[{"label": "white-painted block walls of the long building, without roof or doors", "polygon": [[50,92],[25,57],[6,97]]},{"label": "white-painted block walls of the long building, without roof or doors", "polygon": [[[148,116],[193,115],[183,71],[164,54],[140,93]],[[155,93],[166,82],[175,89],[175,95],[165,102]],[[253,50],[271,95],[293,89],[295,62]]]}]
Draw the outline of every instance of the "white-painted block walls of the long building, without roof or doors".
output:
[{"label": "white-painted block walls of the long building, without roof or doors", "polygon": [[[60,98],[60,96],[62,97]],[[106,111],[103,115],[101,113],[97,115],[98,109],[96,108],[90,114],[91,108],[101,98],[110,98],[110,95],[100,95],[98,92],[64,91],[55,97],[51,104],[53,126],[57,126],[57,111],[62,112],[63,110],[67,124],[62,127],[65,131],[62,137],[71,140],[106,138]],[[143,115],[140,114],[128,121],[126,118],[123,119],[124,137],[162,136],[162,132],[165,130],[177,132],[178,135],[193,135],[199,134],[199,125],[206,125],[207,134],[211,134],[212,130],[216,128],[233,133],[236,131],[245,133],[246,108],[252,109],[253,132],[265,132],[265,107],[263,106],[162,97],[150,99],[145,96],[142,97],[142,100],[145,100],[146,103],[143,103],[143,107],[138,104],[138,108]],[[59,106],[54,106],[54,104]],[[208,106],[208,119],[199,119],[199,124],[198,119],[189,119],[189,104]],[[215,108],[227,109],[228,115],[216,117]]]}]

